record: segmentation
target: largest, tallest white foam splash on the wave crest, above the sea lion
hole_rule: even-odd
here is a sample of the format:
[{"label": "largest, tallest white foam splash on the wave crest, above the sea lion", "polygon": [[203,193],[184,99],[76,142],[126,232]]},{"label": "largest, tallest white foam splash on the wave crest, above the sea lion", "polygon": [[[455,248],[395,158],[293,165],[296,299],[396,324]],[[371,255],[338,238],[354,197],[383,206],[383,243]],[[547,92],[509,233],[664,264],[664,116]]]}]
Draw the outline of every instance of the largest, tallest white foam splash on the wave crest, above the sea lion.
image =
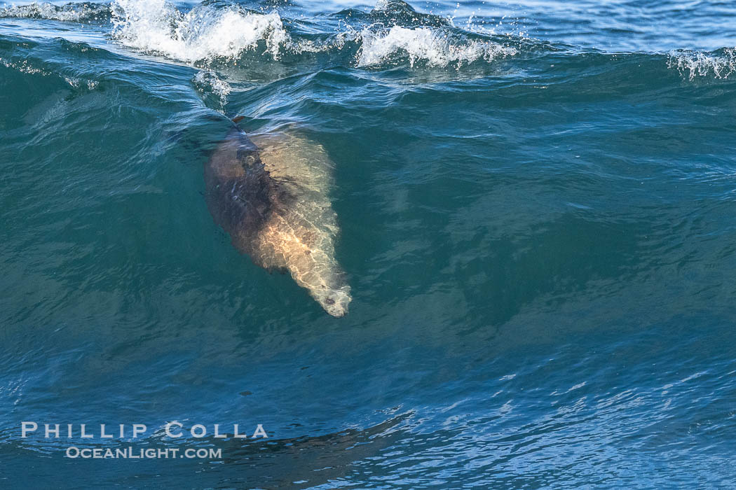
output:
[{"label": "largest, tallest white foam splash on the wave crest, above the sea lion", "polygon": [[115,0],[113,7],[117,40],[183,62],[234,59],[259,41],[278,59],[280,46],[290,41],[277,12],[200,4],[182,13],[165,0]]}]

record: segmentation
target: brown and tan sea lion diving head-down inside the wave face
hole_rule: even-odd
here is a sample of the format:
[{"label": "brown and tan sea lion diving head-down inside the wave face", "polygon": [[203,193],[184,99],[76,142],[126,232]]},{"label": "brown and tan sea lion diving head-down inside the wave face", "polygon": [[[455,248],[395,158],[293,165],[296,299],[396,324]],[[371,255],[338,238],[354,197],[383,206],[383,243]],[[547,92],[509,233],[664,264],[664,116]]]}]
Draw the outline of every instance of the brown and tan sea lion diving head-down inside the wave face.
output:
[{"label": "brown and tan sea lion diving head-down inside the wave face", "polygon": [[289,271],[325,311],[343,317],[353,298],[335,258],[332,170],[322,146],[304,137],[275,134],[256,146],[233,125],[205,164],[205,195],[238,251],[267,270]]}]

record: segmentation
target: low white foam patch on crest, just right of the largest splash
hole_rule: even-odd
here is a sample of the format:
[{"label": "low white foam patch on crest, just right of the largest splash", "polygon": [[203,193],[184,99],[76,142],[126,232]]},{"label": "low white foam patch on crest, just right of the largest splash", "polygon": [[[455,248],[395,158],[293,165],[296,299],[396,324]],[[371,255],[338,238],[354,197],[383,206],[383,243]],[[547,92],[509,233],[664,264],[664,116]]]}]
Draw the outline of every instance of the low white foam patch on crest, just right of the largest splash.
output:
[{"label": "low white foam patch on crest, just right of the largest splash", "polygon": [[429,66],[444,67],[469,64],[476,60],[492,61],[516,54],[516,49],[481,40],[453,38],[445,29],[432,27],[392,26],[374,32],[369,28],[359,33],[362,41],[358,65],[381,65],[392,57],[406,54],[409,65],[418,61]]}]

